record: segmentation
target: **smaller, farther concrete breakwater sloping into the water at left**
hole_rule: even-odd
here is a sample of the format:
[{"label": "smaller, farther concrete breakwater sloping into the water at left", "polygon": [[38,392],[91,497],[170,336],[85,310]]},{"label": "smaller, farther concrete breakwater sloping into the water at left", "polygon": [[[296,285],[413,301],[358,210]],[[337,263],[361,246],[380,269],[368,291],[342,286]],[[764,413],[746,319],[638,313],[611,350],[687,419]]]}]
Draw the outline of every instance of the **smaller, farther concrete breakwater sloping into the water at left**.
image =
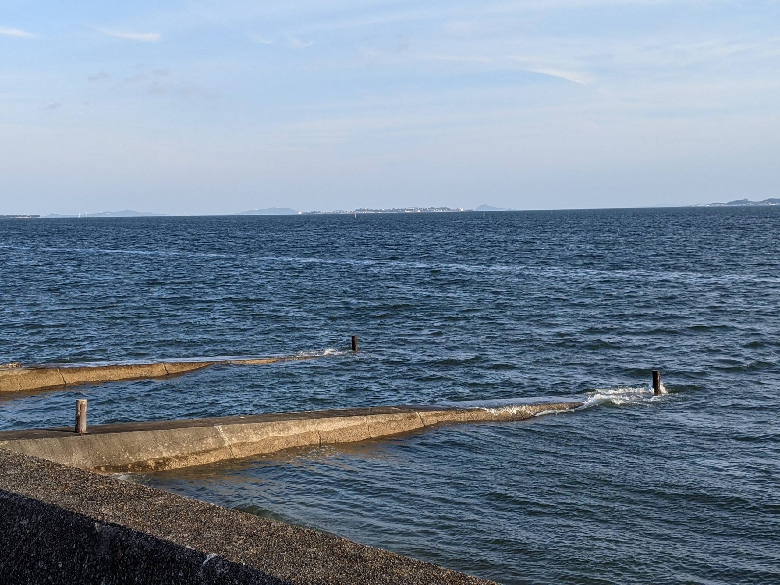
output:
[{"label": "smaller, farther concrete breakwater sloping into the water at left", "polygon": [[23,366],[9,363],[0,366],[0,392],[23,392],[62,388],[76,384],[138,380],[141,378],[164,378],[173,374],[184,374],[216,364],[261,365],[293,360],[312,360],[321,355],[258,357],[247,359],[224,359],[202,361],[163,361],[154,363],[107,363],[101,365],[52,365]]}]

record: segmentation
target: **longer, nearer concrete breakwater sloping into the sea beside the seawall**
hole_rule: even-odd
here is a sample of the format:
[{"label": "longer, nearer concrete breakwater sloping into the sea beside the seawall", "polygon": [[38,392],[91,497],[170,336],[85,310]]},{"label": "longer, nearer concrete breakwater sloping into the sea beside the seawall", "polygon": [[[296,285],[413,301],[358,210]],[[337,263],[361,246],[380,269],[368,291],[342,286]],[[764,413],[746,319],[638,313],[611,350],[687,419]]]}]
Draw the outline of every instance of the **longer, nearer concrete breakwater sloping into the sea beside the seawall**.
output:
[{"label": "longer, nearer concrete breakwater sloping into the sea beside the seawall", "polygon": [[427,406],[320,410],[195,420],[5,431],[0,449],[99,472],[172,470],[291,447],[348,443],[438,424],[523,420],[571,410],[582,402],[545,402],[497,409]]}]

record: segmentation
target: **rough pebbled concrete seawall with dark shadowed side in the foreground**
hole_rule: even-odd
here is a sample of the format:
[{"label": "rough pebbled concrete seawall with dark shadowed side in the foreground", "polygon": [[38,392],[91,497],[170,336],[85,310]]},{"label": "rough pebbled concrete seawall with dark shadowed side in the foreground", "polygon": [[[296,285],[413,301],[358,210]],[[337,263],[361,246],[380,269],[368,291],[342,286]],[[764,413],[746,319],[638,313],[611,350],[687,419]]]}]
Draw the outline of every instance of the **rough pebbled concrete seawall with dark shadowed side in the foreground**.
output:
[{"label": "rough pebbled concrete seawall with dark shadowed side in the foreground", "polygon": [[0,509],[0,583],[491,583],[7,449]]}]

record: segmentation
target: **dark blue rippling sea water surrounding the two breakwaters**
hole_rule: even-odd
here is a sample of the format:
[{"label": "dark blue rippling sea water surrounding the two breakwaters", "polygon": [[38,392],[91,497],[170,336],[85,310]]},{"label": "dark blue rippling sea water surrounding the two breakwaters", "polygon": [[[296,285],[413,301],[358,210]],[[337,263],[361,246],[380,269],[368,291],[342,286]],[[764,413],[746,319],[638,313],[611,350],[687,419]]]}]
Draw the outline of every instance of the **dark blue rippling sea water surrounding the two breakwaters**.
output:
[{"label": "dark blue rippling sea water surrounding the two breakwaters", "polygon": [[134,479],[502,583],[780,583],[778,250],[771,207],[4,221],[0,362],[332,355],[5,396],[0,427],[586,394]]}]

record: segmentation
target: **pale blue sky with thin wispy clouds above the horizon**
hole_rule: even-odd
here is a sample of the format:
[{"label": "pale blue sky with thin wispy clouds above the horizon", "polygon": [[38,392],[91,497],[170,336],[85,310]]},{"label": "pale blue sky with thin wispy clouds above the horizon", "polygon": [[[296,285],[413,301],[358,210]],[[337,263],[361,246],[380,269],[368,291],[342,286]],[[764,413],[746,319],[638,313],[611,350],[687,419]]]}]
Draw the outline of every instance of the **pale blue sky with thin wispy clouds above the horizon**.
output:
[{"label": "pale blue sky with thin wispy clouds above the horizon", "polygon": [[0,214],[778,197],[777,0],[0,8]]}]

